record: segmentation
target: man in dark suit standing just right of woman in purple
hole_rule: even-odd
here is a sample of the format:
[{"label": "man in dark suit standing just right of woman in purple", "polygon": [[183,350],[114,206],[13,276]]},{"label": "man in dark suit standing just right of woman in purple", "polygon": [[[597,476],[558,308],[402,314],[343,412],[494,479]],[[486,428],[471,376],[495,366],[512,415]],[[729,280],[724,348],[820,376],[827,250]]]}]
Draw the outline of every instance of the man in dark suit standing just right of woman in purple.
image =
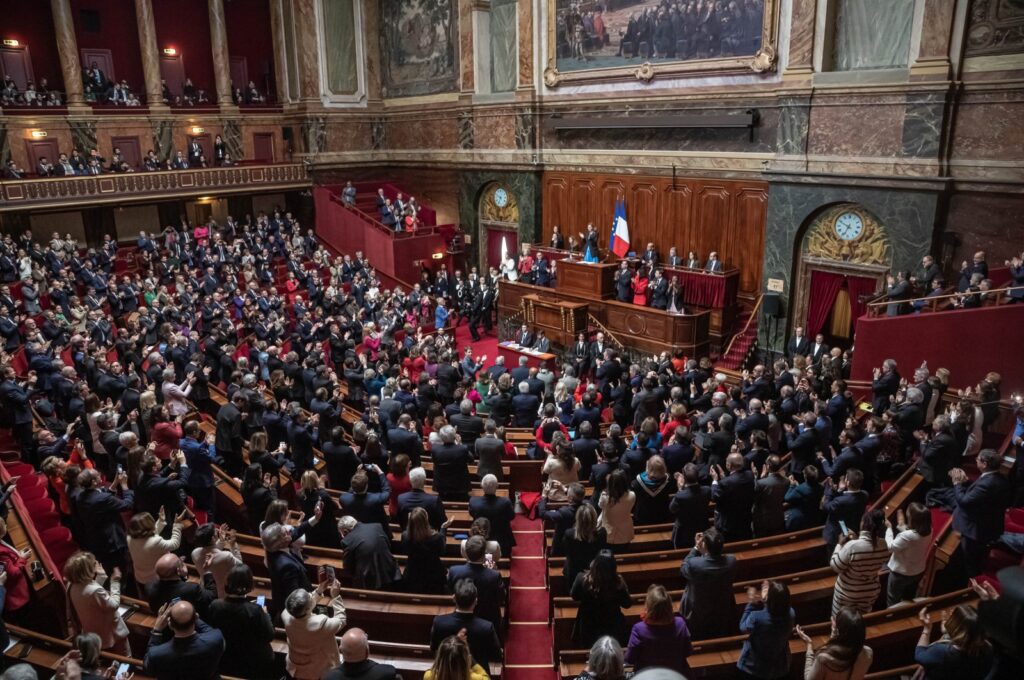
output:
[{"label": "man in dark suit standing just right of woman in purple", "polygon": [[695,640],[723,637],[735,632],[736,603],[732,582],[736,558],[723,555],[722,535],[714,526],[694,537],[694,546],[680,570],[686,592],[679,613]]}]

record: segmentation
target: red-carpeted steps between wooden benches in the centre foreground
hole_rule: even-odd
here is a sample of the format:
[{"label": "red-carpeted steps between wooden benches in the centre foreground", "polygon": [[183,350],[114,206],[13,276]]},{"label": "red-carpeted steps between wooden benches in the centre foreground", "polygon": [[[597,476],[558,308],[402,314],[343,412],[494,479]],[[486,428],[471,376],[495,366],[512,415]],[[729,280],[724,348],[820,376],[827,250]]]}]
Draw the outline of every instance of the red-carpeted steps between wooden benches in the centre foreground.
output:
[{"label": "red-carpeted steps between wooden benches in the centre foreground", "polygon": [[557,680],[549,617],[550,593],[544,556],[544,524],[516,515],[512,520],[509,628],[505,639],[505,680]]}]

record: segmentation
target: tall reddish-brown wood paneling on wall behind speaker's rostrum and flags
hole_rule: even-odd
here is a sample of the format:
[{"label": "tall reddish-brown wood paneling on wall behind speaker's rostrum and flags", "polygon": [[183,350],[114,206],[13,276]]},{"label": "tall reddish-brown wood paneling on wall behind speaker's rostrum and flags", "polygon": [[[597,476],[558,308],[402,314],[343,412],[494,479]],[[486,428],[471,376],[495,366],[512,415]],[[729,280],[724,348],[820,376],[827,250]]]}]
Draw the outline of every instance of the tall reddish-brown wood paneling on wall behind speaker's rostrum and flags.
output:
[{"label": "tall reddish-brown wood paneling on wall behind speaker's rostrum and flags", "polygon": [[548,172],[543,186],[543,237],[552,226],[562,233],[583,231],[593,223],[607,247],[615,201],[626,200],[633,248],[653,242],[663,257],[675,246],[705,260],[718,251],[726,266],[740,269],[739,295],[753,299],[761,289],[768,184],[755,180],[718,180],[645,175]]}]

